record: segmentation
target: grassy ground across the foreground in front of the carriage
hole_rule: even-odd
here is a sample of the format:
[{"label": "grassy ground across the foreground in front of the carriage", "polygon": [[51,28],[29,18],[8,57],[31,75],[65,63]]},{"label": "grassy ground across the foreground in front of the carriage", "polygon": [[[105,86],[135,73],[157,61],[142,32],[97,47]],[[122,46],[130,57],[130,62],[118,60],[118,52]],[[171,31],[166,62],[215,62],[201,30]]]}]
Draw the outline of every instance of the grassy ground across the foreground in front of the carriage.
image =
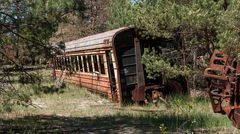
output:
[{"label": "grassy ground across the foreground in front of the carriage", "polygon": [[240,133],[204,98],[169,96],[169,106],[119,106],[74,85],[38,94],[32,85],[17,86],[29,90],[33,106],[1,113],[0,133]]}]

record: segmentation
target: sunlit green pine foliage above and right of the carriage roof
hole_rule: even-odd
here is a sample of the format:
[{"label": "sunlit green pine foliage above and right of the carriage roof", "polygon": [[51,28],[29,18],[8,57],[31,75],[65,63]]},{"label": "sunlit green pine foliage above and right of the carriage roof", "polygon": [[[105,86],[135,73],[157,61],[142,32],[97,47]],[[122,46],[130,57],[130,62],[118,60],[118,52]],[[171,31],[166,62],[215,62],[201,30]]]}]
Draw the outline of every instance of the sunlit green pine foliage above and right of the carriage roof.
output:
[{"label": "sunlit green pine foliage above and right of the carriage roof", "polygon": [[144,36],[167,38],[177,32],[186,46],[216,45],[228,52],[239,47],[238,0],[114,0],[112,5],[110,28],[133,25]]}]

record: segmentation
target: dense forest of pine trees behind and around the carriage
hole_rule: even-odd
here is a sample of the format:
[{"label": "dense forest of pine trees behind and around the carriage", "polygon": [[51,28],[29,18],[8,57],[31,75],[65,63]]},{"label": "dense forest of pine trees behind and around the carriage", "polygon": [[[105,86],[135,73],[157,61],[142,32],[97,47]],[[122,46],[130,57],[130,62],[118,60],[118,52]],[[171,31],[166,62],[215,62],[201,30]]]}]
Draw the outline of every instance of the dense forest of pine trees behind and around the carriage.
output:
[{"label": "dense forest of pine trees behind and around the carriage", "polygon": [[[184,76],[191,88],[204,88],[202,71],[215,48],[239,58],[239,10],[238,0],[5,0],[0,2],[0,67],[47,64],[53,42],[131,26],[143,38],[173,39],[182,46],[181,64],[146,50],[142,62],[150,78]],[[0,89],[7,90],[4,84]]]}]

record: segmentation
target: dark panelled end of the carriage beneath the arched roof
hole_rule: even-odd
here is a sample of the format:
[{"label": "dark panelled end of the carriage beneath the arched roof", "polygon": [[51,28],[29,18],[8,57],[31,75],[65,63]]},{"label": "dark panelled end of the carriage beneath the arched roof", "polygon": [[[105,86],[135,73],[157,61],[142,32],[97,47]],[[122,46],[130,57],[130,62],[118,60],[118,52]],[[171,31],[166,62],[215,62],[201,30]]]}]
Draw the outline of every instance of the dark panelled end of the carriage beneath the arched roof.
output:
[{"label": "dark panelled end of the carriage beneath the arched roof", "polygon": [[131,100],[132,90],[137,85],[136,60],[133,31],[115,37],[114,49],[118,61],[118,80],[121,84],[122,100]]}]

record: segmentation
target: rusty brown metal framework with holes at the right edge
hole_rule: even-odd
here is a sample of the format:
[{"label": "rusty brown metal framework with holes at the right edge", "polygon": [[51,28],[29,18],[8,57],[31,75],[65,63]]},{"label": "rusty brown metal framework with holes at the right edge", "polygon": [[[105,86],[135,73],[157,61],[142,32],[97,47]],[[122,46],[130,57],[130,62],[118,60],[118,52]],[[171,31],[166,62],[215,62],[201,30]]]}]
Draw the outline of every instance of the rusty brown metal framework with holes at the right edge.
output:
[{"label": "rusty brown metal framework with holes at the right edge", "polygon": [[204,76],[209,80],[213,111],[226,114],[233,125],[240,128],[240,62],[215,50]]}]

